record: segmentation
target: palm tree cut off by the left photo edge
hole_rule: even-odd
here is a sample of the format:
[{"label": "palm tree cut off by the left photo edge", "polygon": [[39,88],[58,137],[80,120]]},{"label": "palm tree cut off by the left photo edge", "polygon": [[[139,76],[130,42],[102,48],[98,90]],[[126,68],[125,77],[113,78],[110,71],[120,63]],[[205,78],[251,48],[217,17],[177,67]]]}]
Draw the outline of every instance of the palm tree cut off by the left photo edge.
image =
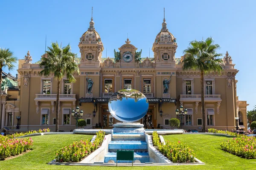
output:
[{"label": "palm tree cut off by the left photo edge", "polygon": [[[8,67],[9,70],[13,70],[15,68],[15,64],[17,63],[17,57],[13,56],[13,52],[9,50],[9,48],[0,48],[0,95],[1,87],[2,87],[2,69],[3,67]],[[0,105],[2,102],[2,96],[0,96]],[[2,111],[2,108],[1,108]]]}]

